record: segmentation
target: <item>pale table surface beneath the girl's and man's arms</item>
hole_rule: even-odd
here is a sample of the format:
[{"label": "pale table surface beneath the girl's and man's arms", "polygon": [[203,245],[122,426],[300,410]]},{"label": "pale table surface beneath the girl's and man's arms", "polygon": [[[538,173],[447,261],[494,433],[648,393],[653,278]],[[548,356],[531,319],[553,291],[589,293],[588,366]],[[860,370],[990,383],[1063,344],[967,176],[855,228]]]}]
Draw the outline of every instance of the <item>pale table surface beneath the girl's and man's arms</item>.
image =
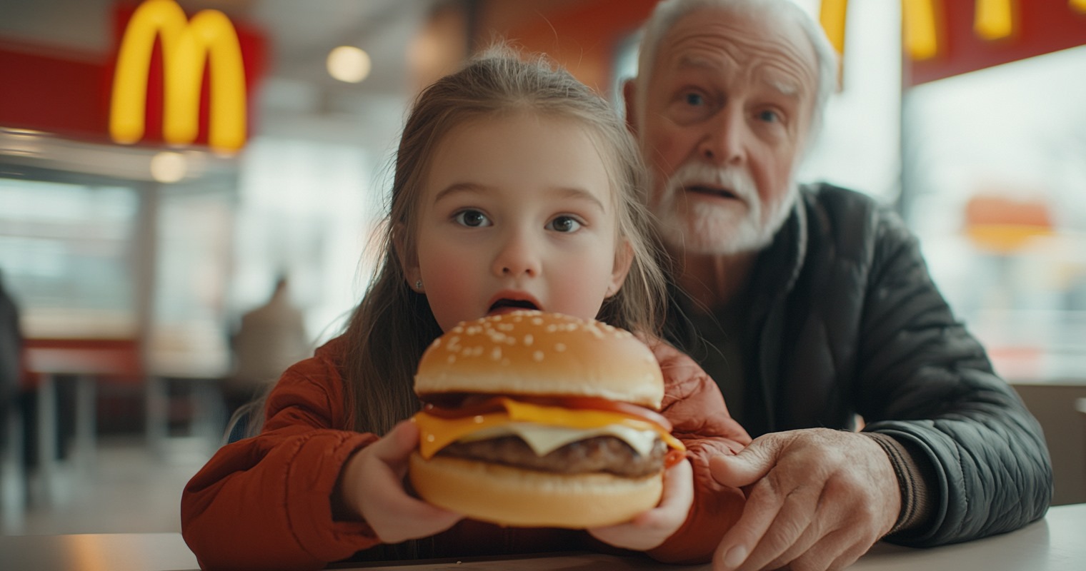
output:
[{"label": "pale table surface beneath the girl's and man's arms", "polygon": [[[1086,561],[1086,504],[1057,506],[1045,519],[1008,534],[973,542],[911,549],[877,544],[849,571],[913,571],[957,569],[959,571],[1081,571]],[[0,554],[5,570],[35,571],[180,571],[197,569],[195,556],[178,533],[116,533],[81,535],[0,536]],[[599,554],[563,554],[520,558],[478,558],[333,566],[336,569],[387,571],[525,571],[564,569],[585,571],[608,569],[705,571],[709,566],[668,566],[644,558],[622,558]]]}]

